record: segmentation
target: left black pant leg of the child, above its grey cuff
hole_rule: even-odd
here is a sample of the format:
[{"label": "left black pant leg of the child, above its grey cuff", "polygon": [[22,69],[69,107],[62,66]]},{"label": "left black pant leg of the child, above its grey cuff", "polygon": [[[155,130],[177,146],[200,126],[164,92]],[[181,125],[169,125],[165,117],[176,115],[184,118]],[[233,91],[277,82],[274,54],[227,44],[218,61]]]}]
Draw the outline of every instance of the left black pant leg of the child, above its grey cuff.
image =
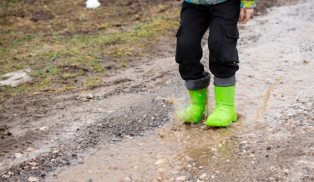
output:
[{"label": "left black pant leg of the child, above its grey cuff", "polygon": [[205,77],[201,40],[209,27],[208,7],[183,2],[177,36],[176,62],[184,80]]}]

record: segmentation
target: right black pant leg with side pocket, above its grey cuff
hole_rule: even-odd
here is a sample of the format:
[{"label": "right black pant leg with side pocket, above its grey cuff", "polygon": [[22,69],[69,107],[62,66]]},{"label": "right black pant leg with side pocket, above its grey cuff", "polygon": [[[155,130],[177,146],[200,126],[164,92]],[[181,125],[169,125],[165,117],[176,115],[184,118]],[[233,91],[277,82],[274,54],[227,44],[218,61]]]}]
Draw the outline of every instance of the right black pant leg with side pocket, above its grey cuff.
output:
[{"label": "right black pant leg with side pocket, above its grey cuff", "polygon": [[239,32],[237,22],[240,14],[240,1],[226,1],[210,7],[210,70],[215,77],[228,78],[239,69],[236,48]]}]

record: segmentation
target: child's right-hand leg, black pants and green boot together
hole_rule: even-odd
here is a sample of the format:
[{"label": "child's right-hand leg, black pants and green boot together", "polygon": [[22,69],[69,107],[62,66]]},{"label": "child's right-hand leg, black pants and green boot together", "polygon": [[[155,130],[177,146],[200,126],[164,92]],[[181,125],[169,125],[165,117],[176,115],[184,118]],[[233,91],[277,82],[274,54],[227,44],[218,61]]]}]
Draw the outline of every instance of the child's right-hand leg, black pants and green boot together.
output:
[{"label": "child's right-hand leg, black pants and green boot together", "polygon": [[226,127],[237,121],[235,109],[235,72],[239,69],[236,49],[239,32],[237,22],[240,1],[227,1],[210,7],[210,70],[215,75],[216,108],[206,120],[206,125]]}]

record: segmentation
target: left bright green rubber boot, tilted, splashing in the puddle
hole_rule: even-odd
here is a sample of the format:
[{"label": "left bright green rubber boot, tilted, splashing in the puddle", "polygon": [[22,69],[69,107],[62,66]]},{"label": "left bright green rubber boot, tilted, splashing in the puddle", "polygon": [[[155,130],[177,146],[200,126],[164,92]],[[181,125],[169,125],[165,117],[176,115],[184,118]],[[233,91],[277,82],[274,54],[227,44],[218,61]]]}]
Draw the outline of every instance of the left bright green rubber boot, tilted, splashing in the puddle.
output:
[{"label": "left bright green rubber boot, tilted, splashing in the puddle", "polygon": [[180,121],[197,123],[202,119],[206,106],[207,90],[207,87],[200,90],[188,89],[192,103],[179,113]]}]

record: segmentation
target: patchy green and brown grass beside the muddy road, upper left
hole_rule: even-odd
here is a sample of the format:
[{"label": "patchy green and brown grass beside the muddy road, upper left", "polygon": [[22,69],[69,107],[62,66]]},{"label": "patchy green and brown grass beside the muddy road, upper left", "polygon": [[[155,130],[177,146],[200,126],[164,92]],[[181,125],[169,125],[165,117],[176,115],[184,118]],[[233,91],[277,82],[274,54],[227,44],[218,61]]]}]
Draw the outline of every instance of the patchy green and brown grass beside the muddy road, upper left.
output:
[{"label": "patchy green and brown grass beside the muddy road, upper left", "polygon": [[[156,5],[147,11],[101,6],[89,11],[72,6],[71,1],[53,1],[47,11],[58,16],[49,21],[29,21],[45,3],[10,0],[11,14],[0,21],[0,74],[28,67],[36,81],[0,86],[0,92],[35,93],[43,88],[64,92],[81,85],[97,86],[106,76],[102,65],[112,61],[125,69],[131,65],[129,60],[144,60],[154,51],[147,49],[148,45],[175,35],[180,18],[180,6]],[[91,77],[91,68],[99,77]],[[8,78],[0,77],[3,79]]]}]

